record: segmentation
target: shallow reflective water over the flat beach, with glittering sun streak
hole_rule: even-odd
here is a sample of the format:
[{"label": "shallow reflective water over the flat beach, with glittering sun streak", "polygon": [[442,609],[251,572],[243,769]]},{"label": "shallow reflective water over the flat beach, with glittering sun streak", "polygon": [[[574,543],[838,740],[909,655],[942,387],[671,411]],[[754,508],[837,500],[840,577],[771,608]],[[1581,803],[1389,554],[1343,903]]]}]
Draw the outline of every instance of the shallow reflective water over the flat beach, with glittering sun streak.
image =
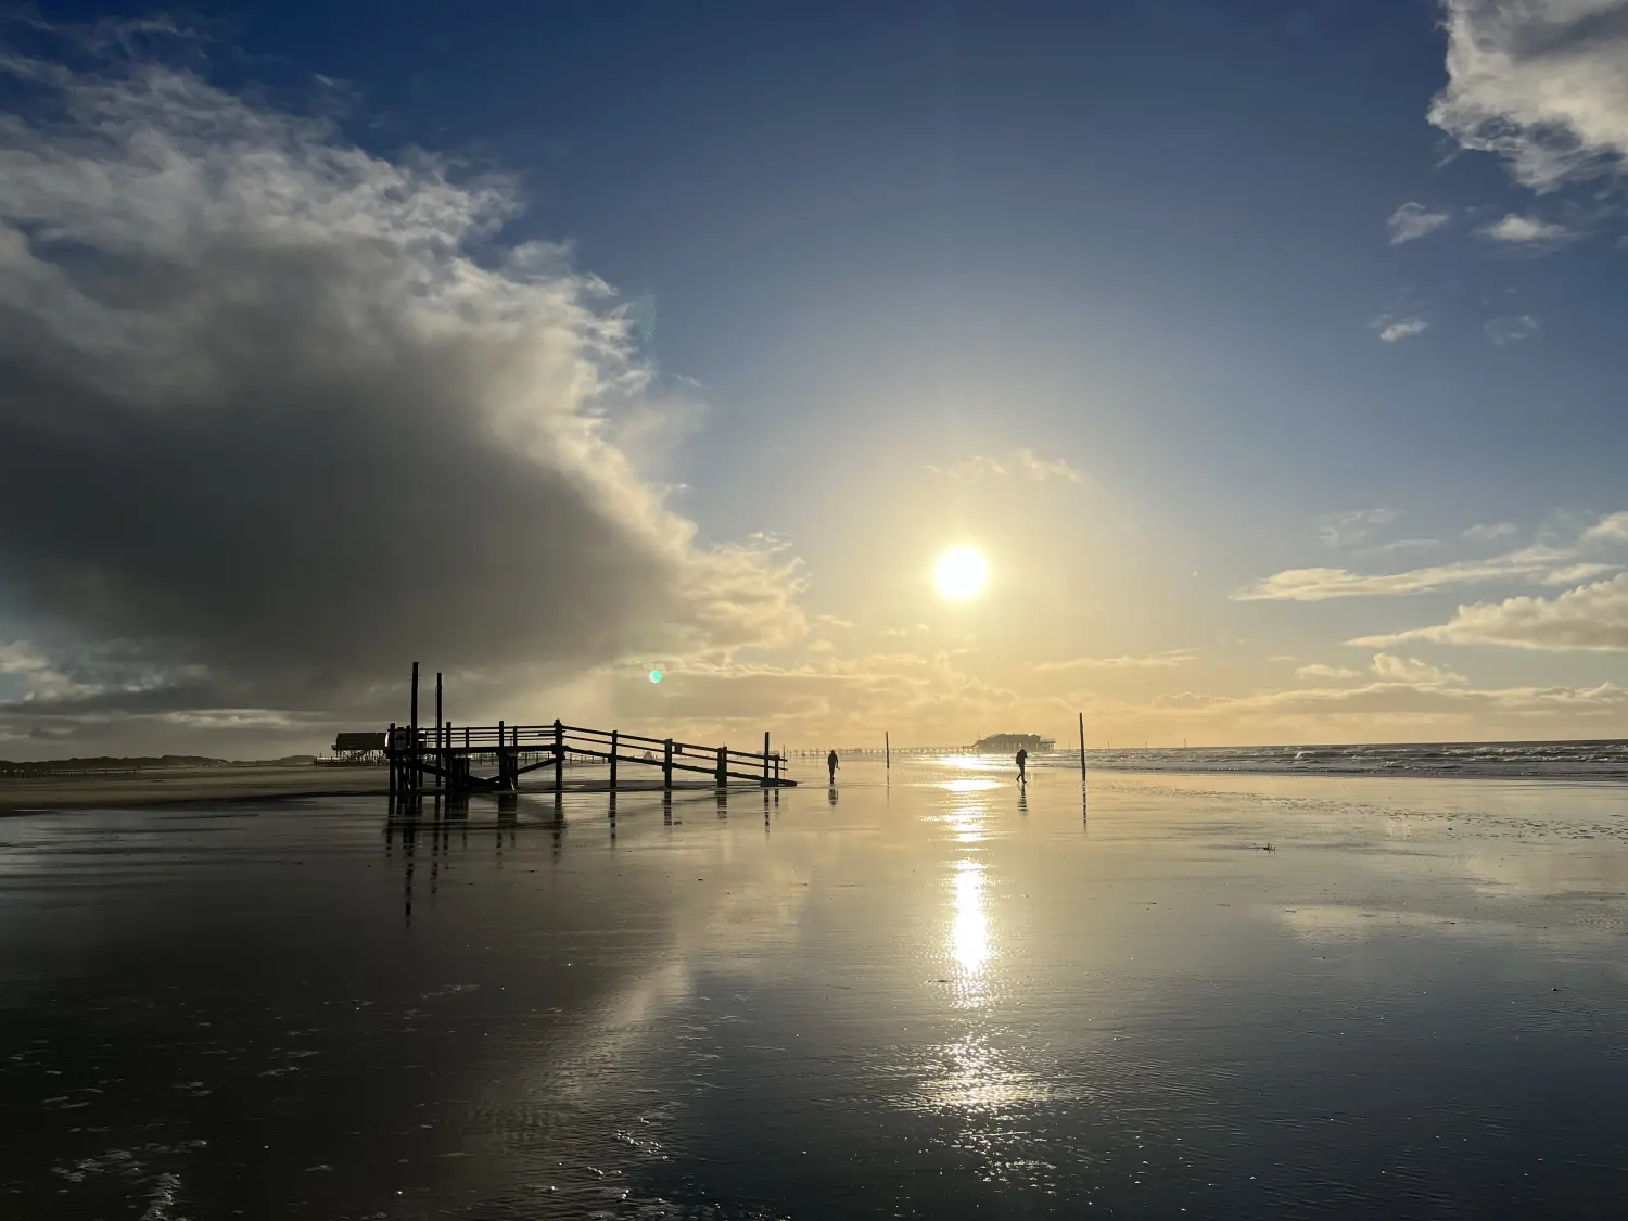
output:
[{"label": "shallow reflective water over the flat beach, with glittering sun streak", "polygon": [[0,821],[0,1216],[1621,1214],[1628,790],[842,775]]}]

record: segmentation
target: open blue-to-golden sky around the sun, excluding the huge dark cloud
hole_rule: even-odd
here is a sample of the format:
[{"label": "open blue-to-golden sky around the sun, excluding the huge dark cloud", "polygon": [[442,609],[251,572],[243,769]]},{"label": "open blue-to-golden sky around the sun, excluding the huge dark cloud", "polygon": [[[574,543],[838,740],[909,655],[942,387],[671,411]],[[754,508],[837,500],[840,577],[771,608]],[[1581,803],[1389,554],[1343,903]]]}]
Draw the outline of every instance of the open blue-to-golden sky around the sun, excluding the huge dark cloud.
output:
[{"label": "open blue-to-golden sky around the sun, excluding the huge dark cloud", "polygon": [[[1083,707],[1122,736],[1304,741],[1621,731],[1625,557],[1599,524],[1628,508],[1625,10],[283,2],[179,23],[212,88],[334,116],[327,138],[379,164],[510,176],[513,215],[469,257],[568,243],[653,370],[653,423],[619,440],[641,485],[690,547],[768,534],[796,558],[786,630],[622,641],[537,676],[539,702],[947,739]],[[931,596],[956,542],[990,555],[978,606]],[[1271,580],[1421,570],[1405,593]],[[39,640],[94,638],[24,578],[10,594],[34,650],[13,687]],[[1503,619],[1587,622],[1454,627],[1519,597],[1543,601]],[[656,650],[694,661],[694,707],[617,677]],[[1063,663],[1039,674],[1070,682],[1037,677]],[[313,698],[300,716],[344,715]]]}]

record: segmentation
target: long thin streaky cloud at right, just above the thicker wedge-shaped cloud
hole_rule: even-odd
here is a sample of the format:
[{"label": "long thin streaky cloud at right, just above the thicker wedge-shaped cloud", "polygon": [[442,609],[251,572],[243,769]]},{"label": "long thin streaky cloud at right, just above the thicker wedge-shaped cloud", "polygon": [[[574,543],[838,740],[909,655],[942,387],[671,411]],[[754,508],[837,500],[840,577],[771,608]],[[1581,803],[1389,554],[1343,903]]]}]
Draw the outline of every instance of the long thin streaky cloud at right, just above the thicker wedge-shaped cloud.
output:
[{"label": "long thin streaky cloud at right, just above the thicker wedge-shaped cloud", "polygon": [[[1499,523],[1503,526],[1504,523]],[[1477,529],[1477,527],[1472,527]],[[1478,537],[1495,537],[1485,527]],[[1504,531],[1498,531],[1503,534]],[[1348,568],[1288,568],[1232,594],[1234,601],[1322,602],[1332,597],[1423,594],[1459,584],[1524,580],[1569,584],[1617,571],[1621,565],[1586,558],[1628,542],[1628,513],[1602,518],[1568,545],[1535,544],[1486,560],[1457,560],[1402,573],[1353,573]]]}]

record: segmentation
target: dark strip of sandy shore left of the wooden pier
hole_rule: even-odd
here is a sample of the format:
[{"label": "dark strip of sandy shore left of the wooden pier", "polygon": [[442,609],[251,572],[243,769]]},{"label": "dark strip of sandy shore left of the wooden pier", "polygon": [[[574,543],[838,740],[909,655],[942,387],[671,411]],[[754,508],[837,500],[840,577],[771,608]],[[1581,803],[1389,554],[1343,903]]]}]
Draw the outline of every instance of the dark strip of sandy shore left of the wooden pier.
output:
[{"label": "dark strip of sandy shore left of the wooden pier", "polygon": [[166,767],[129,775],[0,780],[0,814],[177,801],[386,793],[383,767]]}]

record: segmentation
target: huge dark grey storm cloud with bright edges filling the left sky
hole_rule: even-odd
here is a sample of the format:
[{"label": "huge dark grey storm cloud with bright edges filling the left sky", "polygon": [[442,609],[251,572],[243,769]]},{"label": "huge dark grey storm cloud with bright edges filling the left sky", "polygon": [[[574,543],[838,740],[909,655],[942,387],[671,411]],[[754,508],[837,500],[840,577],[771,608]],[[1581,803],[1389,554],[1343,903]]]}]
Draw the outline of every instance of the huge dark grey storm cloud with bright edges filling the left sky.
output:
[{"label": "huge dark grey storm cloud with bright edges filling the left sky", "polygon": [[609,290],[469,252],[506,184],[151,62],[3,67],[0,594],[145,664],[59,698],[361,708],[420,654],[493,679],[798,630],[791,570],[697,547],[617,444],[651,404]]}]

